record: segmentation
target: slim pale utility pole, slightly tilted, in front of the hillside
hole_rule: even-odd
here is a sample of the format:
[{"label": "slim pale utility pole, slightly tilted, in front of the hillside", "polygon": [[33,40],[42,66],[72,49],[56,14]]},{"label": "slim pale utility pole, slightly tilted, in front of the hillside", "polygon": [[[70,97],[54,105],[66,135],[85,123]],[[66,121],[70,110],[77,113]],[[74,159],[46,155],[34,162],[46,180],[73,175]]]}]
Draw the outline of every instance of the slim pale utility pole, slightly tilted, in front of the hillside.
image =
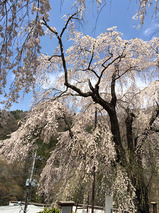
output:
[{"label": "slim pale utility pole, slightly tilted, in front of the hillside", "polygon": [[32,165],[32,169],[31,169],[30,179],[27,179],[27,181],[26,181],[27,190],[26,190],[26,197],[25,197],[24,213],[27,212],[28,198],[30,195],[30,188],[31,188],[31,183],[32,183],[32,179],[33,179],[33,174],[34,174],[36,156],[37,156],[37,150],[35,151],[34,158],[33,158],[33,165]]}]

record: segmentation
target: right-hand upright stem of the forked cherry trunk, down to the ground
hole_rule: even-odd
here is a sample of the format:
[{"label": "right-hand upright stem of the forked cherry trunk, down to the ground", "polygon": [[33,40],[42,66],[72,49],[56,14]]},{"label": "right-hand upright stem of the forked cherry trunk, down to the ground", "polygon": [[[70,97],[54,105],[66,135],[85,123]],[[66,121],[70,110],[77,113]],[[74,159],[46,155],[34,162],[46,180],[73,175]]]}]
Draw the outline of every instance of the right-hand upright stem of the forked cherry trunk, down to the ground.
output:
[{"label": "right-hand upright stem of the forked cherry trunk, down to the ground", "polygon": [[145,185],[143,168],[141,162],[141,156],[138,156],[135,153],[135,147],[133,143],[133,132],[132,132],[132,123],[135,115],[127,109],[127,118],[126,123],[126,136],[128,144],[128,176],[136,189],[136,205],[138,212],[140,213],[149,213],[148,206],[148,190]]}]

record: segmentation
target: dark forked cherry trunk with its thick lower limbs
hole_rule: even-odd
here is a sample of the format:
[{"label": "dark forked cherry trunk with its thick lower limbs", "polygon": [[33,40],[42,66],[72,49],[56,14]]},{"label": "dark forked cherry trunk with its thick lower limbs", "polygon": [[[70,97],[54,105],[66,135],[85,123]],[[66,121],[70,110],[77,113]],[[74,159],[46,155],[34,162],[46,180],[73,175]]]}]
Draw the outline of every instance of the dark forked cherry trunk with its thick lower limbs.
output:
[{"label": "dark forked cherry trunk with its thick lower limbs", "polygon": [[95,103],[98,103],[100,106],[102,106],[108,113],[110,118],[111,133],[113,135],[113,141],[114,141],[115,150],[116,150],[116,162],[119,163],[127,171],[127,174],[130,180],[132,181],[133,186],[136,189],[138,212],[149,213],[149,208],[147,205],[148,192],[144,184],[142,164],[141,164],[141,161],[139,163],[139,159],[137,155],[135,154],[135,149],[133,146],[133,134],[132,134],[132,122],[133,122],[132,115],[133,114],[130,114],[129,110],[128,110],[128,117],[126,120],[127,143],[128,143],[128,149],[130,152],[128,157],[127,157],[126,150],[123,148],[122,141],[121,141],[119,122],[118,122],[117,113],[116,113],[117,98],[116,98],[116,92],[115,92],[115,83],[116,83],[116,80],[118,79],[116,75],[116,71],[117,70],[115,70],[114,74],[112,75],[110,102],[105,101],[100,96],[99,83],[97,83],[95,87],[93,87],[91,82],[89,81],[89,87],[91,91],[87,93],[83,93],[79,88],[76,88],[75,86],[71,86],[67,81],[65,85],[73,89],[79,95],[83,97],[91,96],[92,100]]}]

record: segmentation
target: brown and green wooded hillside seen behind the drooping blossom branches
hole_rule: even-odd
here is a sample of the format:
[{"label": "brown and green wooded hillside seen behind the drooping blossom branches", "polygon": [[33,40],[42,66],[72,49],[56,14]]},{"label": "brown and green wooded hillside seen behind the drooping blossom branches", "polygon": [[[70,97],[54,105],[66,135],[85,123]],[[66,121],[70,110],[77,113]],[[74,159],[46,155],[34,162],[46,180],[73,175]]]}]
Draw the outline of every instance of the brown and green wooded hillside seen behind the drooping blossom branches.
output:
[{"label": "brown and green wooded hillside seen behind the drooping blossom branches", "polygon": [[[49,114],[50,110],[46,110]],[[42,114],[42,112],[39,112]],[[33,113],[34,114],[34,113]],[[16,111],[0,111],[0,140],[3,142],[5,139],[10,139],[11,134],[18,131],[21,126],[23,126],[29,116],[33,117],[33,114],[28,112],[23,112],[21,110]],[[39,117],[40,117],[39,114]],[[42,118],[45,123],[46,114]],[[51,117],[51,116],[49,116]],[[58,123],[58,132],[63,132],[67,130],[64,120],[56,116],[55,118]],[[68,119],[68,122],[71,122]],[[34,122],[31,122],[34,125]],[[29,128],[30,124],[27,128]],[[36,126],[36,125],[35,125]],[[42,125],[43,126],[43,125]],[[44,125],[45,126],[45,125]],[[21,132],[21,130],[20,130]],[[47,143],[43,143],[43,135],[36,141],[38,145],[38,158],[35,163],[34,171],[34,180],[38,181],[39,175],[46,164],[47,159],[50,157],[50,151],[55,147],[57,143],[57,136],[51,136]],[[0,146],[1,147],[1,146]],[[20,152],[17,148],[17,151]],[[30,152],[23,161],[18,164],[18,161],[9,163],[6,161],[6,158],[0,155],[0,206],[8,205],[10,200],[23,200],[25,199],[25,182],[26,179],[30,178],[30,172],[32,167],[32,160],[34,152]],[[12,162],[12,161],[11,161]],[[4,184],[5,182],[5,184]],[[44,202],[43,197],[37,195],[37,186],[31,188],[31,197],[30,201],[32,202]]]}]

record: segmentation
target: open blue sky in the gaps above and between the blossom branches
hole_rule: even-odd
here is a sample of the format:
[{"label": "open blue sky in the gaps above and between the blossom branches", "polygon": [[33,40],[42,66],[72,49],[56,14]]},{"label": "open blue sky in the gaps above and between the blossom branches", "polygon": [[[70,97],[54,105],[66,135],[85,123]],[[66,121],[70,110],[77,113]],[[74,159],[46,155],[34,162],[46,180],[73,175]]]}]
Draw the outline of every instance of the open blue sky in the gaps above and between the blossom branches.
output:
[{"label": "open blue sky in the gaps above and between the blossom branches", "polygon": [[[61,4],[61,2],[63,3]],[[64,14],[70,14],[72,12],[70,8],[73,2],[73,0],[53,1],[50,23],[53,27],[56,27],[58,31],[62,29],[64,24],[61,17]],[[104,32],[107,28],[117,26],[118,31],[123,33],[124,39],[137,37],[142,38],[143,40],[150,40],[155,32],[155,29],[157,29],[157,26],[159,29],[159,24],[157,25],[155,19],[152,19],[153,7],[148,9],[144,25],[137,29],[138,23],[135,23],[135,21],[132,19],[138,9],[136,1],[107,0],[106,2],[107,3],[100,11],[99,16],[99,10],[98,12],[96,10],[96,3],[90,3],[84,14],[85,22],[83,23],[83,26],[79,26],[78,29],[84,34],[89,34],[90,36],[96,37],[100,33]],[[42,39],[43,53],[51,54],[55,46],[56,40],[52,40],[50,43],[48,42],[48,39]],[[29,110],[30,100],[31,95],[27,95],[19,104],[13,104],[11,110]]]}]

